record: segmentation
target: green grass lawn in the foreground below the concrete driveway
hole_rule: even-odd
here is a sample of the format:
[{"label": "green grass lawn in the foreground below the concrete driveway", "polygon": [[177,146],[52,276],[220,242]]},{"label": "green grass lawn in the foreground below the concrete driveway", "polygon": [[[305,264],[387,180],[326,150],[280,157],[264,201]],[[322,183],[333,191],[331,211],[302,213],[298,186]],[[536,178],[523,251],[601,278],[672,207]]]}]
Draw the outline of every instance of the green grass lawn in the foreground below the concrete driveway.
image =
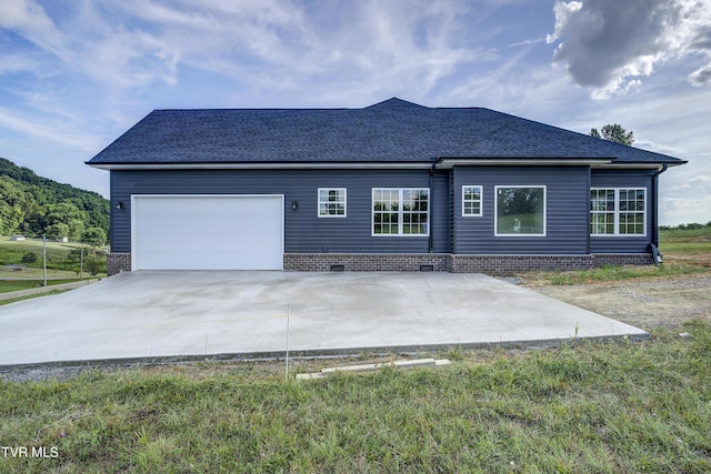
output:
[{"label": "green grass lawn in the foreground below the concrete driveway", "polygon": [[59,454],[0,471],[708,473],[711,326],[683,330],[301,383],[277,363],[0,382],[2,445]]}]

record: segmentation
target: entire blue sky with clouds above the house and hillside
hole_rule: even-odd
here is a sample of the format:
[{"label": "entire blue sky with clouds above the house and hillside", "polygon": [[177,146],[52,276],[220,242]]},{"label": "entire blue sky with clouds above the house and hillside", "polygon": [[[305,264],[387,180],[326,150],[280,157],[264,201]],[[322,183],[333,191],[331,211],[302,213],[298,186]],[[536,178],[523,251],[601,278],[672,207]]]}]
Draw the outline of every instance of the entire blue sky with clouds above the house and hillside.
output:
[{"label": "entire blue sky with clouds above the house and hillside", "polygon": [[108,196],[91,159],[153,109],[485,107],[689,160],[711,221],[711,4],[697,0],[2,0],[0,157]]}]

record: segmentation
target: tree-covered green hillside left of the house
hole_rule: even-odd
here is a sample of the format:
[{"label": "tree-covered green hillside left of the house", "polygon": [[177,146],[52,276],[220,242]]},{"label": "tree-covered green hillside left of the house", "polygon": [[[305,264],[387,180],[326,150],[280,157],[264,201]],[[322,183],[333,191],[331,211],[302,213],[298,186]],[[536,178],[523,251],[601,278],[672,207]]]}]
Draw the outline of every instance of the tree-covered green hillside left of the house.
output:
[{"label": "tree-covered green hillside left of the house", "polygon": [[38,177],[0,158],[0,235],[69,238],[109,232],[109,201],[99,193]]}]

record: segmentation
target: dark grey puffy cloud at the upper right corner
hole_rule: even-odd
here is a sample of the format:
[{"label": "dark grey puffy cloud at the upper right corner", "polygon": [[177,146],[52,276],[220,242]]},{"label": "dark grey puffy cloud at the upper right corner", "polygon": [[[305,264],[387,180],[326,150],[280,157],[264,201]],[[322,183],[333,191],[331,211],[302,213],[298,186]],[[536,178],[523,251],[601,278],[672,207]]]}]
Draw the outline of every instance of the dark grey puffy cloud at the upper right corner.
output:
[{"label": "dark grey puffy cloud at the upper right corner", "polygon": [[560,40],[553,63],[594,99],[625,94],[672,59],[705,62],[687,71],[693,85],[711,82],[711,4],[697,0],[559,2],[548,42]]}]

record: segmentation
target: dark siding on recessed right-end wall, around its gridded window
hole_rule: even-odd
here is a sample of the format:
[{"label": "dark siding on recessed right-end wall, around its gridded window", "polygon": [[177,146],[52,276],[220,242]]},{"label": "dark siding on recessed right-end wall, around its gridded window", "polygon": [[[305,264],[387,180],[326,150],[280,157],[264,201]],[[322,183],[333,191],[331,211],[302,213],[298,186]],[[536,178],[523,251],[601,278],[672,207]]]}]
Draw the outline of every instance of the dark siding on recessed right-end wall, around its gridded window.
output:
[{"label": "dark siding on recessed right-end wall, around its gridded window", "polygon": [[653,239],[654,170],[593,170],[591,188],[645,188],[647,189],[647,232],[644,236],[591,236],[592,253],[642,253],[649,252]]}]

